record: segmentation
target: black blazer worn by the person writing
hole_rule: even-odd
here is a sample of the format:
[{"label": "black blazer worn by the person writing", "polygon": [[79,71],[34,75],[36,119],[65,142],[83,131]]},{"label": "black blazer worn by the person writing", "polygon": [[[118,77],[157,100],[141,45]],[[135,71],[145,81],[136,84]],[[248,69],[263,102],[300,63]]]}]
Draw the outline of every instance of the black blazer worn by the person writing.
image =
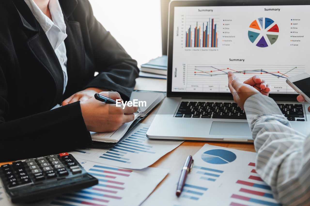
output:
[{"label": "black blazer worn by the person writing", "polygon": [[0,162],[90,144],[79,102],[49,110],[85,88],[118,91],[124,100],[134,88],[136,61],[95,19],[88,0],[59,2],[68,34],[64,95],[60,63],[27,4],[0,0]]}]

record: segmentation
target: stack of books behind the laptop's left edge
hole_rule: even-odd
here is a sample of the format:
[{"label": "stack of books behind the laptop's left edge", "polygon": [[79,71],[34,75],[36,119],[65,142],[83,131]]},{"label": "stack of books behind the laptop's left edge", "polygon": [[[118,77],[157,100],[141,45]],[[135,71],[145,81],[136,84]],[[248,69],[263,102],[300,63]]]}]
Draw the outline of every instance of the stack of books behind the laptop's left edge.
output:
[{"label": "stack of books behind the laptop's left edge", "polygon": [[167,55],[152,59],[141,65],[140,77],[167,79]]}]

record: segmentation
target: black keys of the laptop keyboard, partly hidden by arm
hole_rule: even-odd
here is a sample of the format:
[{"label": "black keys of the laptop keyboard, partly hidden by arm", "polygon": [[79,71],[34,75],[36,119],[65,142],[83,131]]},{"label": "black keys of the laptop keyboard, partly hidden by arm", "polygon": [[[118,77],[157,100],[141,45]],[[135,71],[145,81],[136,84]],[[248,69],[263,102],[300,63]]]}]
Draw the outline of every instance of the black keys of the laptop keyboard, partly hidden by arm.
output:
[{"label": "black keys of the laptop keyboard, partly hidden by arm", "polygon": [[[303,105],[278,104],[289,121],[305,121]],[[182,101],[175,117],[246,119],[246,113],[235,102]]]}]

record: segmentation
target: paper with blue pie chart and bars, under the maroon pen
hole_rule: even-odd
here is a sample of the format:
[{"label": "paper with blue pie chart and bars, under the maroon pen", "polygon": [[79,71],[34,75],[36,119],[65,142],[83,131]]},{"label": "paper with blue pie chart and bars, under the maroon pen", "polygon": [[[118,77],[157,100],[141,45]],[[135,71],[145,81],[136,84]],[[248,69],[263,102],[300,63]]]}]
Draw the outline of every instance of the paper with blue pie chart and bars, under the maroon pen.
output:
[{"label": "paper with blue pie chart and bars, under the maroon pen", "polygon": [[255,152],[205,144],[193,156],[194,165],[179,198],[175,191],[180,171],[142,205],[278,206],[271,188],[256,173],[255,156]]}]

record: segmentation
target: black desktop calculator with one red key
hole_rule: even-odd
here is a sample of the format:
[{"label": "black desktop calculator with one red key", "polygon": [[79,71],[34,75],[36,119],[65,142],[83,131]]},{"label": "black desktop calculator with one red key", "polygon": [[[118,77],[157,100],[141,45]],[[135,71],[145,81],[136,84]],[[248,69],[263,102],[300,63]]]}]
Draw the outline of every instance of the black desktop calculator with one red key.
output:
[{"label": "black desktop calculator with one red key", "polygon": [[12,203],[38,201],[98,184],[67,152],[2,165],[0,178]]}]

